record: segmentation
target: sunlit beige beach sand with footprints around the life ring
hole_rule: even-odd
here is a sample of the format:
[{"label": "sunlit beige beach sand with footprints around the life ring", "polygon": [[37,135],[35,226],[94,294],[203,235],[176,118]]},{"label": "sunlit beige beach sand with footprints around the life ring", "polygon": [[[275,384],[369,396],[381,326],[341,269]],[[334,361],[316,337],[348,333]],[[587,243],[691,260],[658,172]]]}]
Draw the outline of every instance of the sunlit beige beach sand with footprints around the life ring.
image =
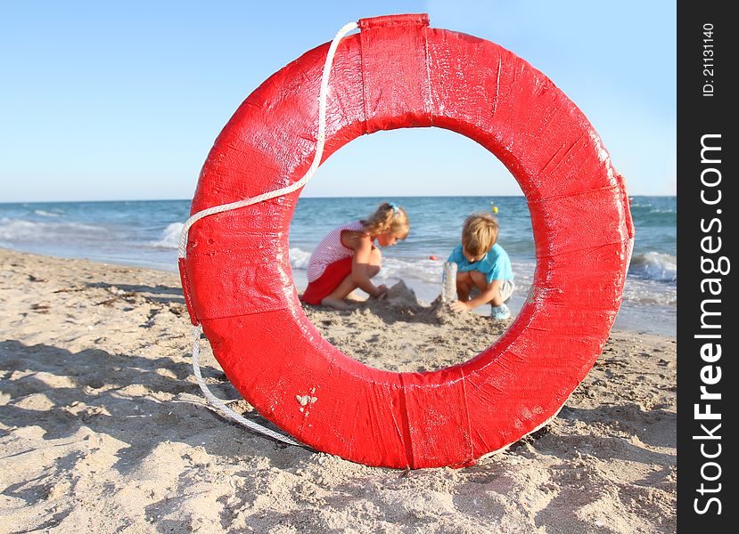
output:
[{"label": "sunlit beige beach sand with footprints around the life ring", "polygon": [[[306,312],[392,370],[448,366],[505,328],[390,296]],[[613,332],[545,428],[472,467],[406,472],[219,417],[190,336],[175,273],[0,249],[0,532],[676,530],[674,339]],[[203,375],[239,398],[207,348]]]}]

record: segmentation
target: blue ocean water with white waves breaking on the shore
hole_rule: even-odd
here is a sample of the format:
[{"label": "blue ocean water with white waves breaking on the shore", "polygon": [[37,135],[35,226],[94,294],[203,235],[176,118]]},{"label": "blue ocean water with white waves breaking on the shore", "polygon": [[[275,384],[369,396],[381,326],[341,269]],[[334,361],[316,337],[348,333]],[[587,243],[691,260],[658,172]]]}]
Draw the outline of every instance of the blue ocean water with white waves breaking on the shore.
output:
[{"label": "blue ocean water with white waves breaking on the shore", "polygon": [[[498,242],[511,256],[515,275],[511,308],[521,308],[536,266],[523,197],[300,198],[290,229],[296,286],[306,286],[308,258],[326,232],[371,214],[385,200],[406,209],[411,233],[383,250],[378,283],[390,286],[403,279],[430,303],[441,290],[442,264],[459,243],[464,217],[494,205]],[[189,211],[189,200],[0,204],[0,247],[177,271],[177,243]],[[677,199],[633,197],[631,214],[636,242],[615,328],[675,336]]]}]

